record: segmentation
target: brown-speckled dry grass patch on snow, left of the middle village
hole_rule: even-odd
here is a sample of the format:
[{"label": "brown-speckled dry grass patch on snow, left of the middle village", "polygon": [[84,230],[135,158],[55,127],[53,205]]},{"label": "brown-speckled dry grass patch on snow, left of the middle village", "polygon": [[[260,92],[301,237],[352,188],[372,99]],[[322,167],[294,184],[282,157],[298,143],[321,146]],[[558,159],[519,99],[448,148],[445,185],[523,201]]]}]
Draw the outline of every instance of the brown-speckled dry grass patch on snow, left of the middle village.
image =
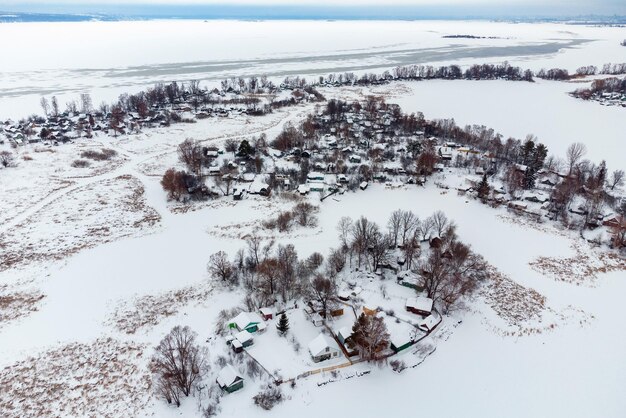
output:
[{"label": "brown-speckled dry grass patch on snow, left of the middle village", "polygon": [[60,260],[82,249],[153,229],[160,215],[146,205],[132,176],[96,181],[46,204],[0,234],[0,270],[35,261]]}]

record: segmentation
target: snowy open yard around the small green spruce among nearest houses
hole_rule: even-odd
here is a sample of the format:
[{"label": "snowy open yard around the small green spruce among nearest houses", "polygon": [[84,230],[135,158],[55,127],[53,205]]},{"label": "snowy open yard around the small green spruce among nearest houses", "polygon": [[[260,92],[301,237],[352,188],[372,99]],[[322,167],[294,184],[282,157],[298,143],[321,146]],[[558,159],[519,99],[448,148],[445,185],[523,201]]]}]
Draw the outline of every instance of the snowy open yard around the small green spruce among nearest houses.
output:
[{"label": "snowy open yard around the small green spruce among nearest houses", "polygon": [[[345,316],[345,315],[344,315]],[[267,322],[267,331],[254,335],[254,344],[247,349],[264,368],[275,377],[295,378],[301,373],[348,362],[342,355],[336,359],[313,362],[308,346],[321,332],[332,338],[325,327],[316,327],[306,317],[304,310],[287,311],[289,331],[285,337],[278,335],[278,318]]]}]

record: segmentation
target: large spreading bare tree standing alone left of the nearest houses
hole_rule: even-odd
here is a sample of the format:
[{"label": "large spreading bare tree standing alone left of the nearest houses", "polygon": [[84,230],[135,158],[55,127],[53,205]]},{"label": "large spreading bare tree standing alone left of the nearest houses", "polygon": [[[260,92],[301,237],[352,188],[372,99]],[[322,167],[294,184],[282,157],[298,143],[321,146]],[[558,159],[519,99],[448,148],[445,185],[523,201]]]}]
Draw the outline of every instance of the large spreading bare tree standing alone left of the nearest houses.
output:
[{"label": "large spreading bare tree standing alone left of the nearest houses", "polygon": [[194,383],[208,371],[208,351],[196,343],[196,336],[187,326],[175,326],[152,356],[150,370],[157,383],[157,392],[168,402],[175,400],[180,405],[176,390],[189,396]]}]

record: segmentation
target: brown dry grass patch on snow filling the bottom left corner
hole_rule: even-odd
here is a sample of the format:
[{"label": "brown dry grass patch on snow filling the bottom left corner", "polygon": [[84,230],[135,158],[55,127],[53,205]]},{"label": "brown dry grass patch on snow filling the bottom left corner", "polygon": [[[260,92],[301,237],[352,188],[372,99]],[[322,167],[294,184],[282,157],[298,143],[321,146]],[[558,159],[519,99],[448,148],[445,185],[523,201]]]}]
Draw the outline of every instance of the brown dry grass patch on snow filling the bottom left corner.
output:
[{"label": "brown dry grass patch on snow filling the bottom left corner", "polygon": [[137,416],[150,399],[144,346],[71,343],[0,370],[3,418]]}]

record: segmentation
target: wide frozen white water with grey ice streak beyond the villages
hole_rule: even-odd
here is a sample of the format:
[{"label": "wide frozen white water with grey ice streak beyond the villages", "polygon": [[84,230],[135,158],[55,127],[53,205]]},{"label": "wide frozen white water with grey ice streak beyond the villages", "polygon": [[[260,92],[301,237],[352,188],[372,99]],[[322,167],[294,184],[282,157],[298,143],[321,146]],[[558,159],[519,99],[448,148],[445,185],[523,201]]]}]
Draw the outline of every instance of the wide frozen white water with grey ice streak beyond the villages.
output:
[{"label": "wide frozen white water with grey ice streak beyond the villages", "polygon": [[[538,70],[626,61],[624,28],[477,21],[139,21],[0,25],[0,119],[94,104],[155,82],[233,76],[275,79],[382,72],[406,64],[501,63]],[[472,35],[497,39],[443,38]],[[36,54],[23,51],[37,50]]]}]

